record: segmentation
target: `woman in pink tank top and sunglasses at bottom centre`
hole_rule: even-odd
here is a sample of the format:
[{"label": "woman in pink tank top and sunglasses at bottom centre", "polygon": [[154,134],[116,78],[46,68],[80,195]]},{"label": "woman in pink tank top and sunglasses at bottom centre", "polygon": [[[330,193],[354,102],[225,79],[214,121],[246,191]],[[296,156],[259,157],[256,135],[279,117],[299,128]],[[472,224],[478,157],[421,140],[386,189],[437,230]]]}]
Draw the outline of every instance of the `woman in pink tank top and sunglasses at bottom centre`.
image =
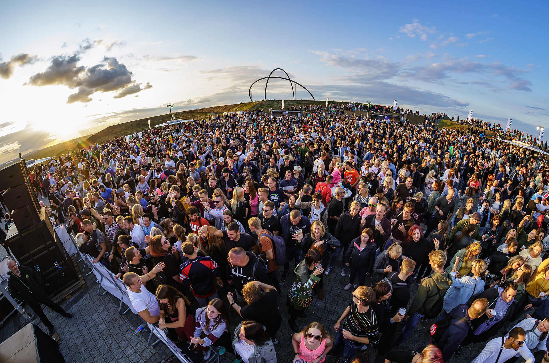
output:
[{"label": "woman in pink tank top and sunglasses at bottom centre", "polygon": [[298,359],[306,363],[321,363],[334,345],[334,339],[326,332],[321,323],[316,321],[307,325],[292,338],[295,363]]}]

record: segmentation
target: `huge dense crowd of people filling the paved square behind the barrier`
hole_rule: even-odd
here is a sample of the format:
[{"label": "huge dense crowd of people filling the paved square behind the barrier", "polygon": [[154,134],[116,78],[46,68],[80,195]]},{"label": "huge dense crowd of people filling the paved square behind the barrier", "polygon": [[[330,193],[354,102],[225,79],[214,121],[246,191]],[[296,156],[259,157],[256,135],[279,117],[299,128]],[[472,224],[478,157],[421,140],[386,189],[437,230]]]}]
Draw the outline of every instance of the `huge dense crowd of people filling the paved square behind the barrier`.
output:
[{"label": "huge dense crowd of people filling the paved square behind the barrier", "polygon": [[[31,178],[52,224],[191,355],[276,362],[287,320],[293,362],[377,348],[385,362],[442,363],[478,342],[475,363],[549,362],[545,160],[439,128],[440,114],[414,125],[343,112],[363,106],[143,130]],[[12,291],[24,290],[10,266]],[[348,292],[334,326],[307,315],[329,274]],[[435,318],[432,340],[399,350]]]}]

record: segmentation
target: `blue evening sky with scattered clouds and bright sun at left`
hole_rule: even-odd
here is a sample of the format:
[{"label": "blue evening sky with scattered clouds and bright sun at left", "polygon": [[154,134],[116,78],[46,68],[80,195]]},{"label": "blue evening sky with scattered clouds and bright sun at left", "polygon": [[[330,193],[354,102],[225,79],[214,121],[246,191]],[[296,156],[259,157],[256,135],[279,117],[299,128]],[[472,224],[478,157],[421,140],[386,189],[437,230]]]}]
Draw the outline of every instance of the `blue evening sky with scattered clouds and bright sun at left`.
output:
[{"label": "blue evening sky with scattered clouds and bright sun at left", "polygon": [[[549,127],[547,2],[2,2],[0,163],[113,124],[316,100]],[[285,76],[281,71],[273,75]],[[253,87],[263,98],[265,81]],[[310,99],[301,87],[296,98]],[[271,80],[267,99],[291,99]],[[544,136],[544,141],[549,138]]]}]

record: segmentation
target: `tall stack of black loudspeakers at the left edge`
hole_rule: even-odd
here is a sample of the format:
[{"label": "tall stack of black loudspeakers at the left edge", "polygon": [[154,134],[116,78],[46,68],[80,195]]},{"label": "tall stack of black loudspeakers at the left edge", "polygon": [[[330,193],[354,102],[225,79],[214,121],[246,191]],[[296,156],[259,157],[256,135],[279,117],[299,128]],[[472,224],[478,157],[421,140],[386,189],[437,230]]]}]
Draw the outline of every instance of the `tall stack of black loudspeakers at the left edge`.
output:
[{"label": "tall stack of black loudspeakers at the left edge", "polygon": [[40,208],[25,160],[9,164],[0,175],[0,190],[5,190],[4,202],[15,224],[5,246],[21,265],[41,274],[42,288],[54,301],[74,293],[83,285],[80,271]]}]

